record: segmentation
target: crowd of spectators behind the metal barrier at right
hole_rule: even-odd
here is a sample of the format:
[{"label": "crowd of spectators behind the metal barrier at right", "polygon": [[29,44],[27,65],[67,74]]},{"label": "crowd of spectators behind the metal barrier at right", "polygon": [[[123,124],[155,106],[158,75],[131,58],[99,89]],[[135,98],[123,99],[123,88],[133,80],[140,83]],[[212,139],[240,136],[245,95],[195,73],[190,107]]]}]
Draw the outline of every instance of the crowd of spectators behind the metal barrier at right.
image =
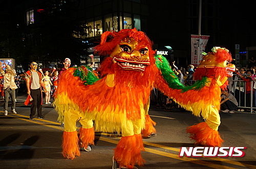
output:
[{"label": "crowd of spectators behind the metal barrier at right", "polygon": [[[195,83],[193,80],[193,74],[195,72],[195,67],[193,65],[188,65],[187,69],[182,67],[177,67],[175,62],[171,64],[173,71],[177,74],[180,79],[180,82],[185,86],[190,86]],[[225,112],[234,111],[245,111],[245,112],[254,112],[256,107],[256,60],[254,57],[251,57],[248,62],[248,67],[239,68],[236,66],[236,71],[233,72],[233,76],[228,78],[228,89],[222,91],[222,100],[226,98],[232,98],[232,101],[236,106],[227,109],[226,104],[229,104],[229,101],[222,105],[222,110]],[[228,95],[230,93],[230,95]],[[226,99],[226,100],[228,100]],[[234,101],[236,99],[236,101]],[[158,91],[157,96],[157,108],[164,108],[165,111],[172,111],[175,107],[179,107],[178,104],[162,95]],[[224,103],[224,102],[223,102]],[[235,107],[235,108],[233,108]],[[256,108],[255,108],[256,112]]]}]

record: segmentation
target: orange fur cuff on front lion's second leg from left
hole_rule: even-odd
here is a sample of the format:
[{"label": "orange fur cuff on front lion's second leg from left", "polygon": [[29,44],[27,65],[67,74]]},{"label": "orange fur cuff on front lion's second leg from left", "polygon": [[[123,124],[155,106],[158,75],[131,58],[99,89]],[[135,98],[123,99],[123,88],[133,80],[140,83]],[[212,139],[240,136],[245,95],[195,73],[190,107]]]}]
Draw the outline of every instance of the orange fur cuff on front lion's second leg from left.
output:
[{"label": "orange fur cuff on front lion's second leg from left", "polygon": [[88,145],[94,145],[94,127],[86,129],[80,127],[79,140],[81,141],[80,147],[87,147]]}]

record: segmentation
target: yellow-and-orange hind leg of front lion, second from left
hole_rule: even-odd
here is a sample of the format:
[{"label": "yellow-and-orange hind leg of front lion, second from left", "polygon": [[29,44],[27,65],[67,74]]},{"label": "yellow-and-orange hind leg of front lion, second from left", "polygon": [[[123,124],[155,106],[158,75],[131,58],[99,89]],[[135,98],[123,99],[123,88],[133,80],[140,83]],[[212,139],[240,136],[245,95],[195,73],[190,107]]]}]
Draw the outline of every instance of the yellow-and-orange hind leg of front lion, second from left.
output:
[{"label": "yellow-and-orange hind leg of front lion, second from left", "polygon": [[82,127],[80,127],[79,130],[79,140],[81,142],[81,147],[87,148],[88,145],[94,145],[94,127],[93,127],[93,121],[82,119],[79,120]]}]

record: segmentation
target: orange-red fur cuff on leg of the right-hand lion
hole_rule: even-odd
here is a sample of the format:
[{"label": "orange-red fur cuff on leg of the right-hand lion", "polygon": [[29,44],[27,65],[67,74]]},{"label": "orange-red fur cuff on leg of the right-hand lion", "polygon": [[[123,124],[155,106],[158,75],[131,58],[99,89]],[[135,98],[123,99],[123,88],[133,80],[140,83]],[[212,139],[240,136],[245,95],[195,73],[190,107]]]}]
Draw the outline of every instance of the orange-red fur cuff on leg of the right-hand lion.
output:
[{"label": "orange-red fur cuff on leg of the right-hand lion", "polygon": [[196,140],[196,144],[204,146],[221,147],[224,142],[219,131],[211,129],[205,122],[187,127],[190,138]]}]

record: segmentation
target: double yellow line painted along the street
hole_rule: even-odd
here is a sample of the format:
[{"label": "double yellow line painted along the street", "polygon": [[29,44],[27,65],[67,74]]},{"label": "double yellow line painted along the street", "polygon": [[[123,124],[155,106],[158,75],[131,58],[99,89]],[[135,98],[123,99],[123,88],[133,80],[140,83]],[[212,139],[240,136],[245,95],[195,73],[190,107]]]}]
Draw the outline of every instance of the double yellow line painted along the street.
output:
[{"label": "double yellow line painted along the street", "polygon": [[[4,112],[4,111],[0,111],[0,112]],[[11,116],[11,115],[14,115],[14,116]],[[19,114],[11,114],[11,115],[8,115],[8,116],[11,116],[11,117],[14,117],[14,118],[17,118],[16,116],[23,117],[23,118],[29,118],[28,116],[19,115]],[[39,124],[39,125],[43,125],[43,126],[46,126],[46,127],[50,127],[50,128],[54,128],[54,129],[58,129],[58,130],[62,130],[62,131],[64,130],[63,127],[61,127],[61,126],[59,126],[59,127],[58,126],[52,126],[52,125],[48,125],[48,124],[45,124],[45,123],[40,123],[40,122],[35,121],[35,120],[38,120],[38,121],[42,121],[42,122],[47,122],[47,123],[60,125],[60,123],[49,121],[49,120],[44,120],[44,119],[29,120],[29,119],[22,119],[22,118],[17,118],[17,119],[24,120],[24,121],[27,121],[27,122],[36,123],[36,124]],[[79,127],[77,127],[77,128],[79,129]],[[103,132],[101,134],[106,135],[106,136],[110,135],[109,133],[103,133]],[[118,144],[118,142],[119,142],[118,140],[114,140],[114,139],[110,139],[110,138],[104,138],[104,137],[99,137],[99,139],[104,141],[104,142],[108,142],[108,143],[112,143],[112,144]],[[155,143],[144,142],[144,141],[143,141],[143,143],[145,145],[152,146],[152,147],[158,147],[158,148],[161,148],[161,149],[180,152],[180,149],[173,148],[173,147],[158,145],[158,144],[155,144]],[[167,152],[154,150],[154,149],[150,149],[150,148],[145,148],[145,151],[153,153],[153,154],[158,154],[158,155],[170,157],[170,158],[175,158],[175,159],[188,161],[188,162],[192,162],[192,163],[196,163],[196,164],[200,164],[200,165],[205,165],[205,166],[212,167],[212,168],[234,168],[234,167],[229,167],[229,166],[225,166],[225,165],[219,165],[219,164],[211,163],[211,162],[208,162],[208,161],[198,160],[198,159],[195,159],[195,158],[179,157],[178,154],[167,153]],[[203,157],[203,158],[206,158],[206,157]],[[207,157],[207,158],[211,159],[211,160],[216,160],[216,161],[221,161],[221,162],[226,162],[226,163],[238,165],[238,166],[243,166],[243,167],[248,167],[248,168],[256,168],[255,165],[250,165],[250,164],[246,164],[246,163],[242,163],[242,162],[238,162],[238,161],[232,161],[232,160],[228,160],[228,159],[224,159],[224,158],[219,158],[219,157],[215,157],[215,158]]]}]

